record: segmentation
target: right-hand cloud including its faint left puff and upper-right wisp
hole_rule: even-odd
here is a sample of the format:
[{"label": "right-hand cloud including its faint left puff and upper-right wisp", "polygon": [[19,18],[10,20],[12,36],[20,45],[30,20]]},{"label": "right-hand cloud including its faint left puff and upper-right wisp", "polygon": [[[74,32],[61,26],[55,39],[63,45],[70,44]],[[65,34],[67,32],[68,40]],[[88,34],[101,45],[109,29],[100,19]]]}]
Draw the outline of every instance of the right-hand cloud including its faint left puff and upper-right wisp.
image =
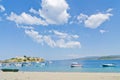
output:
[{"label": "right-hand cloud including its faint left puff and upper-right wisp", "polygon": [[105,13],[97,13],[92,15],[80,14],[77,17],[77,23],[84,23],[85,27],[95,29],[109,20],[112,14],[110,13],[113,9],[109,8]]}]

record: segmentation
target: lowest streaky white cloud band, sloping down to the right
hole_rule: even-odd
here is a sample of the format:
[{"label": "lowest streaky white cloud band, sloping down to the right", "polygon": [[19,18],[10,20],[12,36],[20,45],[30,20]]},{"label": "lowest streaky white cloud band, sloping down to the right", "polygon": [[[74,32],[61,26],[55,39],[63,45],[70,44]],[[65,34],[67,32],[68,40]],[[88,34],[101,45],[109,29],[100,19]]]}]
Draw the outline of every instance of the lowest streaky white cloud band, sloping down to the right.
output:
[{"label": "lowest streaky white cloud band, sloping down to the right", "polygon": [[[58,32],[58,31],[56,31]],[[37,41],[40,44],[47,44],[50,47],[58,47],[58,48],[80,48],[81,44],[78,41],[73,40],[74,37],[72,39],[67,39],[64,37],[59,37],[59,36],[64,36],[68,35],[67,33],[60,33],[59,34],[53,34],[51,35],[42,35],[39,32],[35,31],[35,30],[25,30],[25,33],[31,37],[32,39],[34,39],[35,41]],[[55,32],[53,32],[55,33]],[[62,35],[61,35],[62,34]],[[54,38],[53,36],[56,36],[57,38]],[[71,35],[68,35],[71,36]]]}]

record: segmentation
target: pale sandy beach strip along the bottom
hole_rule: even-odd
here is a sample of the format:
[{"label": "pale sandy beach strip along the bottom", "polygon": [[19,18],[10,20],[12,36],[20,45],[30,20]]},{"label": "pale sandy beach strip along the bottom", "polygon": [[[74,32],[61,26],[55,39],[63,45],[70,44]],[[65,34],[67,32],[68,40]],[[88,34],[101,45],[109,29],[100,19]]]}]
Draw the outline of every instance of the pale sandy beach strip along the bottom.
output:
[{"label": "pale sandy beach strip along the bottom", "polygon": [[120,80],[120,73],[0,72],[0,80]]}]

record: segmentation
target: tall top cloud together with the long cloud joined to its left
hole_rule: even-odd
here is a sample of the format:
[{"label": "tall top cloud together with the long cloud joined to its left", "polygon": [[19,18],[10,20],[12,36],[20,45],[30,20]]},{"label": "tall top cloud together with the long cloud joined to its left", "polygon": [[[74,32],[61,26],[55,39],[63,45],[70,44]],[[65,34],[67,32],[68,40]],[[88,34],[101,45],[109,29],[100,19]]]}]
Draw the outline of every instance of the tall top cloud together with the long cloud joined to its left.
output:
[{"label": "tall top cloud together with the long cloud joined to its left", "polygon": [[[62,5],[62,6],[61,6]],[[70,15],[67,13],[69,5],[65,0],[42,0],[41,9],[39,11],[31,8],[30,13],[37,14],[39,17],[31,16],[25,12],[17,15],[14,12],[7,17],[8,20],[14,21],[16,24],[23,25],[48,25],[48,24],[64,24],[68,22]],[[1,7],[1,10],[3,8]]]}]

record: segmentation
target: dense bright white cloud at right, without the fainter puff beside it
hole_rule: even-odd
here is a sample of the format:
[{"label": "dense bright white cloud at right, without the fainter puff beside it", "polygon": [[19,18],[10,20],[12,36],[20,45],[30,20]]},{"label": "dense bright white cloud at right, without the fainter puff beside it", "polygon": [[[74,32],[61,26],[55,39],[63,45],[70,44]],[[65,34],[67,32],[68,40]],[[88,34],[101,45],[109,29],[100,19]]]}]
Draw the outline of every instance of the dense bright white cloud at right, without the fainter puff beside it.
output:
[{"label": "dense bright white cloud at right, without the fainter puff beside it", "polygon": [[93,15],[89,16],[88,19],[85,20],[84,23],[85,23],[86,27],[94,29],[94,28],[99,27],[105,21],[109,20],[110,16],[112,16],[112,14],[110,14],[110,13],[93,14]]}]

